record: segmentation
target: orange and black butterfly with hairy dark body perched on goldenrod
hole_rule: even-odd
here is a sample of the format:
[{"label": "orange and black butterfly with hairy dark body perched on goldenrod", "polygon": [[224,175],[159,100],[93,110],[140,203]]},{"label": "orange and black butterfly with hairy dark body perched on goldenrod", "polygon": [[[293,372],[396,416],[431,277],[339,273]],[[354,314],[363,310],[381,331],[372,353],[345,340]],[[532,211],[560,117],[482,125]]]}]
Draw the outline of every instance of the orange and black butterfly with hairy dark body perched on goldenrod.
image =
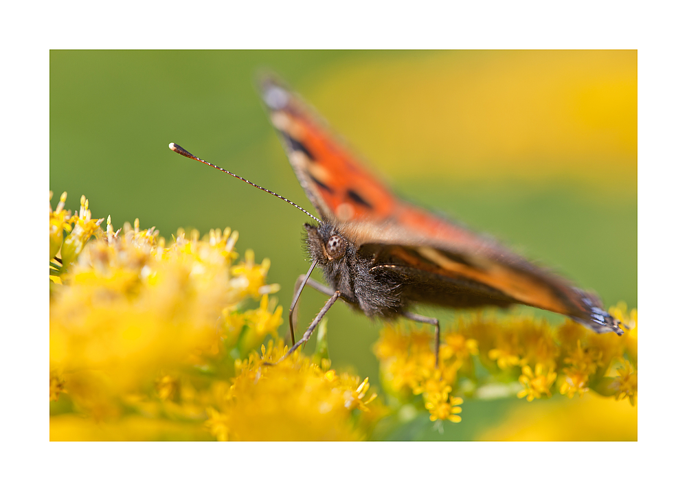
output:
[{"label": "orange and black butterfly with hairy dark body perched on goldenrod", "polygon": [[[417,304],[449,308],[523,304],[567,315],[594,332],[623,333],[622,323],[604,310],[596,295],[491,238],[395,196],[282,82],[269,76],[259,88],[289,162],[320,218],[176,144],[170,148],[278,196],[315,220],[304,225],[312,263],[296,282],[289,309],[291,349],[284,357],[308,341],[339,299],[368,317],[406,317],[431,324],[437,363],[439,321],[413,312]],[[315,267],[322,270],[326,285],[310,277]],[[302,339],[295,341],[295,310],[306,285],[329,299]]]}]

